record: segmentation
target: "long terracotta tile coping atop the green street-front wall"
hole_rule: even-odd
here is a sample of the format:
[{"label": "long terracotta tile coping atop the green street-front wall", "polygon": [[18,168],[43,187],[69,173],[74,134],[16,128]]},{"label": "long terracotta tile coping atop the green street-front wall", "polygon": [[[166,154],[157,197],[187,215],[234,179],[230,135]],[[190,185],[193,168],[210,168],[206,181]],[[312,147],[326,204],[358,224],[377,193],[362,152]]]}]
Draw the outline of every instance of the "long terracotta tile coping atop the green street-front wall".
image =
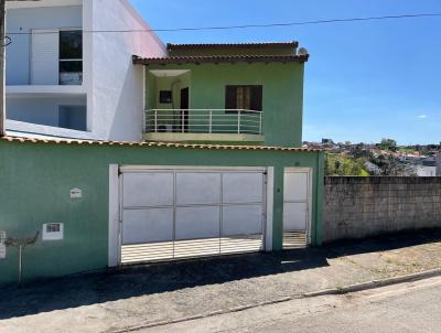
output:
[{"label": "long terracotta tile coping atop the green street-front wall", "polygon": [[189,149],[217,149],[217,150],[267,150],[267,151],[299,151],[320,152],[321,149],[273,147],[273,146],[233,146],[233,144],[200,144],[200,143],[174,143],[174,142],[132,142],[132,141],[90,141],[90,140],[67,140],[67,139],[28,139],[19,137],[3,137],[0,141],[21,143],[56,143],[56,144],[89,144],[89,146],[125,146],[125,147],[165,147],[165,148],[189,148]]}]

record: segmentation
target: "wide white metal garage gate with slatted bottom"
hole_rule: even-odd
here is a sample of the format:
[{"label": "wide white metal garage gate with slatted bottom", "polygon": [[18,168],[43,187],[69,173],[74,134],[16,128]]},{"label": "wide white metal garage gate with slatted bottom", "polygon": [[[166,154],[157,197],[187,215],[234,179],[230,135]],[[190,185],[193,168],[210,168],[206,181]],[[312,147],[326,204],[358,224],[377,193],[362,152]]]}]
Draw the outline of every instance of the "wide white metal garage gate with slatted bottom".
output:
[{"label": "wide white metal garage gate with slatted bottom", "polygon": [[121,264],[263,249],[263,169],[121,171]]}]

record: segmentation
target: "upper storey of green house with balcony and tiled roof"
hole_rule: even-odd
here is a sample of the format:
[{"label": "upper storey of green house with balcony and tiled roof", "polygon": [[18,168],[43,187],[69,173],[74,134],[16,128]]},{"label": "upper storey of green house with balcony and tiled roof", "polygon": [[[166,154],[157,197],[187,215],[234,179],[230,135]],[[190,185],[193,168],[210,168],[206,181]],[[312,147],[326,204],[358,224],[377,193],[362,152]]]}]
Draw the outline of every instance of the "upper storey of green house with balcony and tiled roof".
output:
[{"label": "upper storey of green house with balcony and tiled roof", "polygon": [[300,147],[303,68],[298,43],[168,44],[146,65],[144,139]]}]

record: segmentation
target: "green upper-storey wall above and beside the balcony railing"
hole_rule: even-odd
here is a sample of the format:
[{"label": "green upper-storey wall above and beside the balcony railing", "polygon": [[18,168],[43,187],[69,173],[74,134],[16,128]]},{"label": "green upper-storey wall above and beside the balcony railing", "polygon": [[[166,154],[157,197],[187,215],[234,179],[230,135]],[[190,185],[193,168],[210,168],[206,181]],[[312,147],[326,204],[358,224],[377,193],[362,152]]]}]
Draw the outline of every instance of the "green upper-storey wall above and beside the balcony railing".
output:
[{"label": "green upper-storey wall above and beside the balcony railing", "polygon": [[[148,66],[149,69],[190,69],[190,107],[194,109],[224,109],[227,85],[262,85],[265,142],[261,143],[282,147],[302,143],[303,64],[155,65]],[[158,80],[152,83],[148,74],[148,105],[152,105],[149,97],[154,88],[158,90]]]}]

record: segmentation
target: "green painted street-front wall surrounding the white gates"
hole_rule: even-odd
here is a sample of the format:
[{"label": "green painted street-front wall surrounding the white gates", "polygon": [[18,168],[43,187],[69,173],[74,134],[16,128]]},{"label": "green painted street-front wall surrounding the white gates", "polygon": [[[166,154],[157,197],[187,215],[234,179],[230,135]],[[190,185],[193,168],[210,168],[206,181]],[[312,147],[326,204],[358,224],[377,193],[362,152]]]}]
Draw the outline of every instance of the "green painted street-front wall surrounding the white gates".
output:
[{"label": "green painted street-front wall surrounding the white gates", "polygon": [[[24,277],[105,268],[108,258],[109,164],[275,166],[275,249],[282,245],[283,168],[314,169],[313,241],[320,244],[323,172],[318,152],[206,150],[0,141],[0,230],[28,237],[43,223],[65,224],[65,239],[24,250]],[[69,190],[83,190],[71,200]],[[319,236],[316,236],[319,235]],[[18,253],[0,259],[0,282],[17,279]]]}]

